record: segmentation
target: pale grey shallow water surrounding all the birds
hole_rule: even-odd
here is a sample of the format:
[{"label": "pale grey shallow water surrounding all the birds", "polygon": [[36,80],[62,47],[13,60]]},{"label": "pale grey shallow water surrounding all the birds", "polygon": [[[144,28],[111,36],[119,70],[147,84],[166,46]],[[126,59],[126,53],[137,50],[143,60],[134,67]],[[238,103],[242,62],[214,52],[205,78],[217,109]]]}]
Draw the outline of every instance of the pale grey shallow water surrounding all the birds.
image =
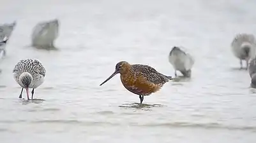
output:
[{"label": "pale grey shallow water surrounding all the birds", "polygon": [[[255,142],[256,91],[230,43],[256,34],[255,1],[3,1],[1,23],[17,20],[0,63],[1,142]],[[58,51],[29,47],[37,22],[59,18]],[[120,60],[174,76],[172,46],[195,57],[192,79],[144,98],[119,76]],[[19,100],[12,69],[38,58],[47,70],[36,101]],[[25,97],[24,92],[24,97]]]}]

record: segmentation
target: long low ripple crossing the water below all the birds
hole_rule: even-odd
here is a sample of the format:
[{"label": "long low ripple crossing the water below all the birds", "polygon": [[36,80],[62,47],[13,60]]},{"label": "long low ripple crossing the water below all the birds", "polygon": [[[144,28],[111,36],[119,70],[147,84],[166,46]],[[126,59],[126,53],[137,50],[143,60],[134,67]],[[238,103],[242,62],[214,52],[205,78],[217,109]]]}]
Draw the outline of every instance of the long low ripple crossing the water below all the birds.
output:
[{"label": "long low ripple crossing the water below all the birds", "polygon": [[[127,126],[126,123],[106,122],[106,121],[79,121],[77,119],[45,119],[37,121],[26,121],[23,119],[17,121],[0,121],[0,123],[53,123],[53,124],[68,124],[68,125],[86,125],[86,126]],[[186,123],[186,122],[173,122],[173,123],[148,123],[139,125],[138,123],[128,123],[128,126],[144,126],[144,127],[170,127],[170,128],[204,128],[204,129],[225,129],[225,130],[245,130],[256,132],[256,126],[237,126],[237,125],[223,125],[220,123]],[[0,132],[5,132],[7,129],[0,128]]]}]

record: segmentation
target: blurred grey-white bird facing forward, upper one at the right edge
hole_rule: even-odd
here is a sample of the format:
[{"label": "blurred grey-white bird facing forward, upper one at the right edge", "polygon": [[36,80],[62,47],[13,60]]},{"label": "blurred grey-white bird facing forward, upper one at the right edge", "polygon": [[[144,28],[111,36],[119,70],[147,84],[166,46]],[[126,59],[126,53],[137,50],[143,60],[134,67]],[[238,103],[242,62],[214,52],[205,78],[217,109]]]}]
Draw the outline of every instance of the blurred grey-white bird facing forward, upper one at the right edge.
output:
[{"label": "blurred grey-white bird facing forward, upper one at the right edge", "polygon": [[237,34],[232,43],[232,51],[240,60],[240,68],[243,69],[242,60],[246,61],[246,69],[248,69],[248,61],[255,57],[256,41],[253,34]]}]

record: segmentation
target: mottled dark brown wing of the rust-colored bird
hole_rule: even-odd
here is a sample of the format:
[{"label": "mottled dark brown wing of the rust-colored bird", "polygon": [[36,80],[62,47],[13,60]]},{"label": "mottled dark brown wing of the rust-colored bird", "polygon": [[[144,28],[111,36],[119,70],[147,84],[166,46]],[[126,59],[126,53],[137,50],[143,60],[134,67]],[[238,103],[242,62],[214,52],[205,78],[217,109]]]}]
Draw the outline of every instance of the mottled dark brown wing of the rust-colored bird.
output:
[{"label": "mottled dark brown wing of the rust-colored bird", "polygon": [[132,65],[132,71],[135,71],[136,74],[140,73],[140,75],[147,78],[149,82],[156,85],[166,83],[171,78],[170,76],[165,76],[160,72],[157,72],[153,67],[150,67],[149,65],[134,64]]}]

